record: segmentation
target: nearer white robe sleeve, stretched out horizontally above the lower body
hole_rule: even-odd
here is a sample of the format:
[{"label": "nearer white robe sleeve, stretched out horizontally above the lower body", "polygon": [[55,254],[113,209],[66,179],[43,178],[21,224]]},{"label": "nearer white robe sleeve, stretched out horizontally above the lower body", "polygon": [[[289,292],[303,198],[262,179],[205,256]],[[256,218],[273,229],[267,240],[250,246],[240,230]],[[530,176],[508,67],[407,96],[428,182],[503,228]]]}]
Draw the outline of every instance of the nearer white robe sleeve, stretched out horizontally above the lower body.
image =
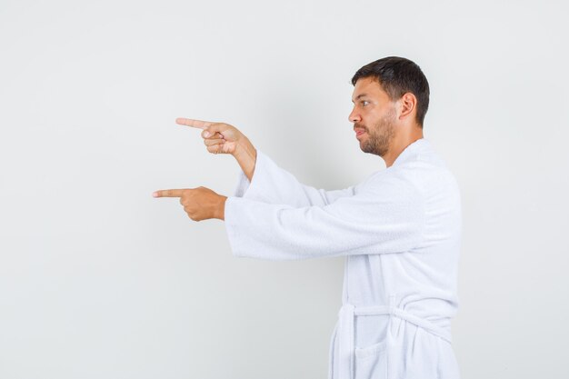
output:
[{"label": "nearer white robe sleeve, stretched out horizontally above the lower body", "polygon": [[326,205],[228,197],[225,227],[233,254],[281,261],[412,251],[423,238],[423,196],[407,180],[377,177]]}]

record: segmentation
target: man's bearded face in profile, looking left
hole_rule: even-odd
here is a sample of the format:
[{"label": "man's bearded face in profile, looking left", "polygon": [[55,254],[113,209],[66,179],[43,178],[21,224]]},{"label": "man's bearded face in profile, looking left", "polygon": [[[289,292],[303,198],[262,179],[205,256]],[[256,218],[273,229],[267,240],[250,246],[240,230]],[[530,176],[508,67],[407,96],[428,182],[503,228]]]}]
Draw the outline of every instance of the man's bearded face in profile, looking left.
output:
[{"label": "man's bearded face in profile, looking left", "polygon": [[354,109],[349,115],[356,138],[364,153],[384,156],[394,138],[395,104],[381,85],[372,78],[355,82]]}]

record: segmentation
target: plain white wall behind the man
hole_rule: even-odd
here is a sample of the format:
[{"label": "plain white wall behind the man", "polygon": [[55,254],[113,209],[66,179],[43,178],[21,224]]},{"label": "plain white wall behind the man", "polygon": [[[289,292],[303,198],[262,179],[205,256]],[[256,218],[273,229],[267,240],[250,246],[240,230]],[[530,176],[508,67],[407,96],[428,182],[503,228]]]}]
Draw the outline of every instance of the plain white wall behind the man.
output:
[{"label": "plain white wall behind the man", "polygon": [[304,184],[384,167],[347,120],[354,72],[401,55],[461,186],[464,378],[567,377],[563,2],[0,3],[0,378],[324,378],[344,258],[237,259],[222,221],[156,189],[230,195],[224,121]]}]

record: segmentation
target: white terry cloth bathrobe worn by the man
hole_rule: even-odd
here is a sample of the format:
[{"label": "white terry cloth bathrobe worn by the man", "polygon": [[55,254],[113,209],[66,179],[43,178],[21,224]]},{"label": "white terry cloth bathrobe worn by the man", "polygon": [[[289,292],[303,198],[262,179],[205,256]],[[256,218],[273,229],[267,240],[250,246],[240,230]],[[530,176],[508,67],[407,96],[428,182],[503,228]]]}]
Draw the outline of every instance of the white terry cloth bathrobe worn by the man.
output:
[{"label": "white terry cloth bathrobe worn by the man", "polygon": [[257,150],[225,202],[233,254],[267,260],[345,255],[343,305],[330,342],[330,379],[457,379],[461,200],[424,138],[394,164],[324,191]]}]

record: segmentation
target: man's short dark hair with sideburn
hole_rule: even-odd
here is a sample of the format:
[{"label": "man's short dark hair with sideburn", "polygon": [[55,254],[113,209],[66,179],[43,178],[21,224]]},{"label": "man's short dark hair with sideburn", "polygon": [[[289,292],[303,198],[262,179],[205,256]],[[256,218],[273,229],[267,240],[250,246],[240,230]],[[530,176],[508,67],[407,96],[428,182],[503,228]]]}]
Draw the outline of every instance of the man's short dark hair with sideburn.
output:
[{"label": "man's short dark hair with sideburn", "polygon": [[416,121],[423,127],[424,115],[429,108],[429,82],[418,65],[400,56],[387,56],[357,70],[352,85],[363,77],[377,80],[391,100],[412,93],[417,98]]}]

